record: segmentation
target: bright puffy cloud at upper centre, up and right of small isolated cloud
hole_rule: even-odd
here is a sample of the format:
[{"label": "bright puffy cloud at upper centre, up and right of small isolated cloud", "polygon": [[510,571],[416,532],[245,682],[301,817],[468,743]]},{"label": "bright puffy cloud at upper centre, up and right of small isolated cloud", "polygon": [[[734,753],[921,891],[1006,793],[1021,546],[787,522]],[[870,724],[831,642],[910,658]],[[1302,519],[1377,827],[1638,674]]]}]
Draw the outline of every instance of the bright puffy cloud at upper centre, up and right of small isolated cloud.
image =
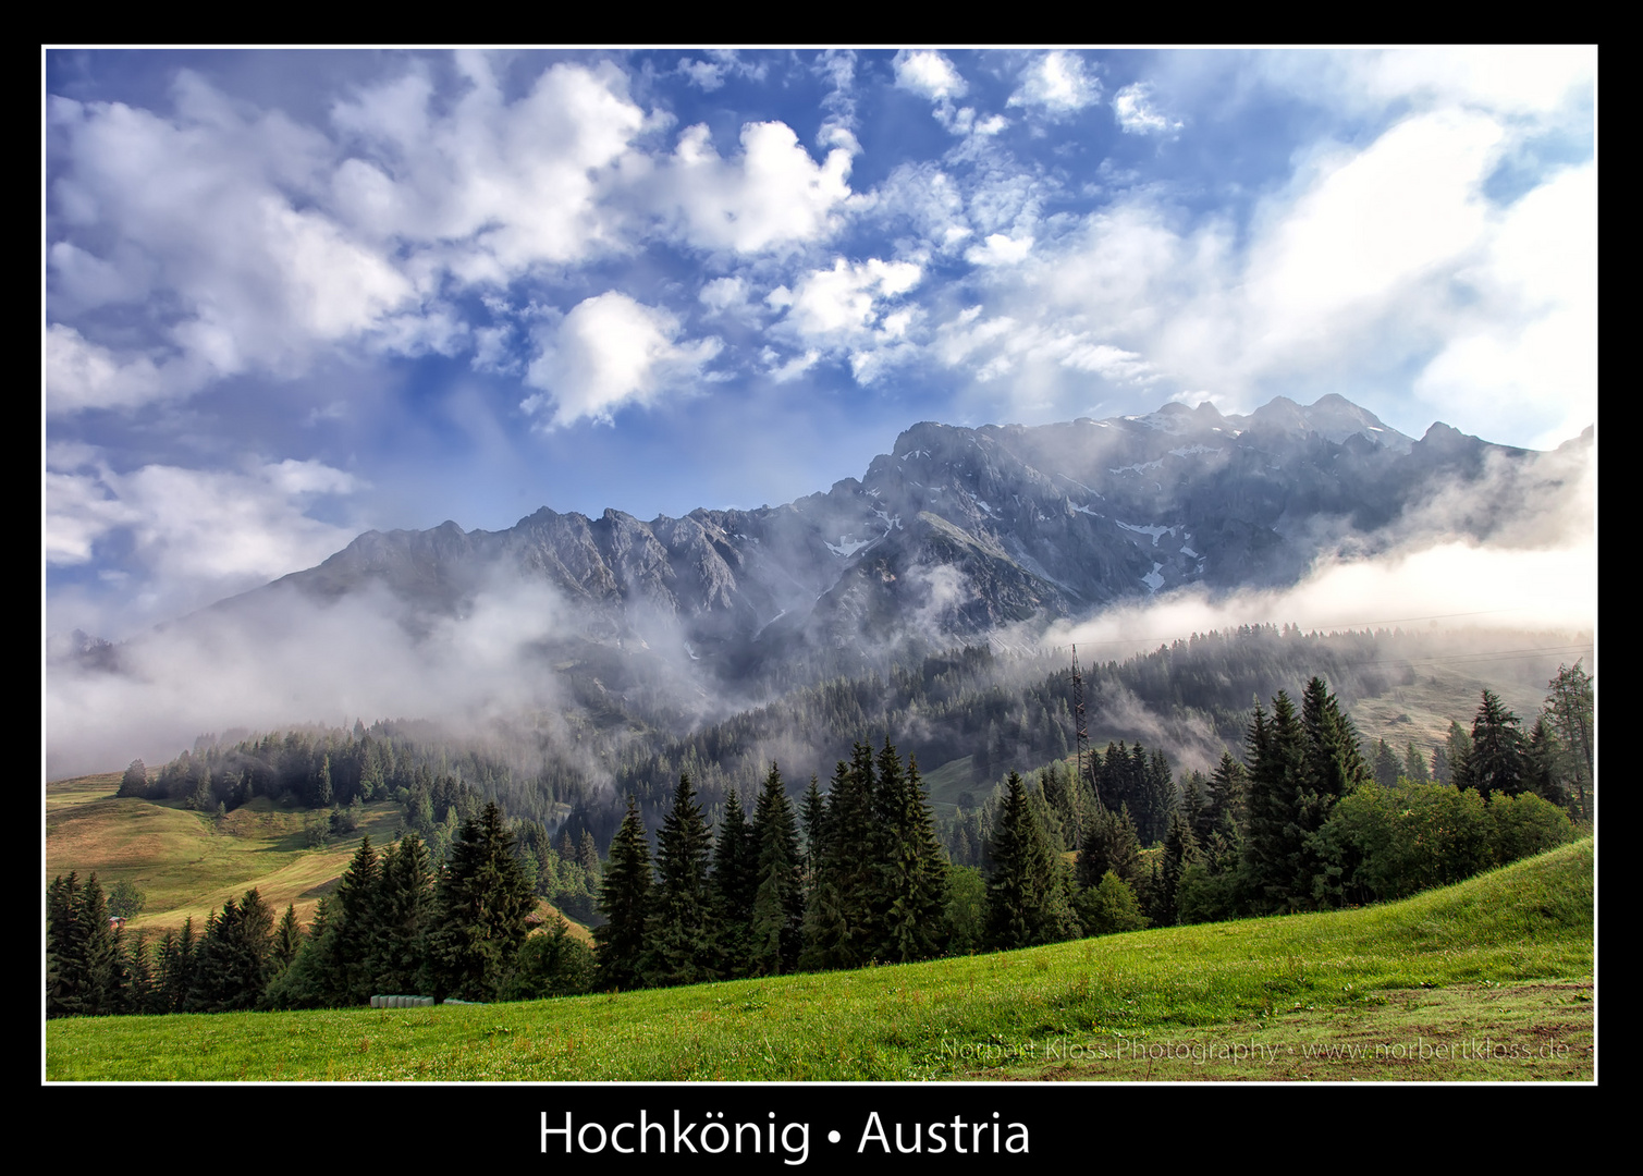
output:
[{"label": "bright puffy cloud at upper centre, up and right of small isolated cloud", "polygon": [[817,164],[785,123],[741,128],[741,158],[713,149],[706,126],[690,126],[656,172],[664,215],[682,222],[700,248],[759,253],[825,240],[849,199],[851,151],[833,148]]}]

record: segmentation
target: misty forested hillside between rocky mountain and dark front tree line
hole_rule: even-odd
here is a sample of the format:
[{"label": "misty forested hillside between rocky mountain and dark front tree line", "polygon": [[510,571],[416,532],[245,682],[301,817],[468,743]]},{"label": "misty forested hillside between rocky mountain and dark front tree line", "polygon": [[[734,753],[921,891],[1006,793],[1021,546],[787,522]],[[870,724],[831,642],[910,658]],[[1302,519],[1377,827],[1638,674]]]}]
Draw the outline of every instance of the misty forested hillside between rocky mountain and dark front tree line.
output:
[{"label": "misty forested hillside between rocky mountain and dark front tree line", "polygon": [[[1582,655],[1562,634],[1497,634],[1493,649],[1518,650],[1503,660],[1480,654],[1490,645],[1477,641],[1245,626],[1194,634],[1125,660],[1101,662],[1091,659],[1099,650],[1081,650],[1089,734],[1098,747],[1112,739],[1145,742],[1176,767],[1208,769],[1224,749],[1240,752],[1255,700],[1319,675],[1349,711],[1357,708],[1365,742],[1388,736],[1400,754],[1406,741],[1429,754],[1451,719],[1470,718],[1479,682],[1530,713],[1558,664]],[[841,749],[856,741],[889,739],[927,775],[955,765],[974,805],[1009,770],[1073,752],[1070,708],[1070,650],[997,655],[961,647],[897,664],[884,675],[792,690],[682,737],[619,711],[598,726],[555,721],[486,739],[458,737],[427,721],[202,736],[146,792],[225,808],[251,795],[289,793],[304,805],[342,806],[393,797],[427,808],[427,820],[437,823],[450,818],[460,790],[495,798],[555,839],[568,836],[575,844],[590,833],[603,849],[629,793],[654,831],[679,775],[688,772],[708,820],[716,820],[728,790],[736,788],[744,802],[754,797],[772,762],[797,797],[812,775],[825,782]],[[1385,713],[1385,723],[1370,713]],[[943,797],[937,800],[938,811],[950,811],[951,800],[945,806]]]}]

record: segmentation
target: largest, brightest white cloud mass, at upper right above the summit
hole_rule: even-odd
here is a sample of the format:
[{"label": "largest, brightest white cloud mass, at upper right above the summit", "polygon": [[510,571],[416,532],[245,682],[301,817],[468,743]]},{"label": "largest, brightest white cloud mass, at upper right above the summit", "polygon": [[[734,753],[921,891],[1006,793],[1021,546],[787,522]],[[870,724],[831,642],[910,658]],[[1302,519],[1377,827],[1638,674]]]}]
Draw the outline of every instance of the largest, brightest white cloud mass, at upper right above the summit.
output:
[{"label": "largest, brightest white cloud mass, at upper right above the summit", "polygon": [[[1595,181],[1564,169],[1502,209],[1485,186],[1516,133],[1479,110],[1408,115],[1300,158],[1247,230],[1119,197],[992,266],[984,319],[938,328],[935,351],[1050,416],[1088,404],[1055,368],[1167,374],[1247,411],[1275,381],[1423,365],[1436,416],[1554,443],[1595,417]],[[1027,325],[986,335],[1004,319]]]}]

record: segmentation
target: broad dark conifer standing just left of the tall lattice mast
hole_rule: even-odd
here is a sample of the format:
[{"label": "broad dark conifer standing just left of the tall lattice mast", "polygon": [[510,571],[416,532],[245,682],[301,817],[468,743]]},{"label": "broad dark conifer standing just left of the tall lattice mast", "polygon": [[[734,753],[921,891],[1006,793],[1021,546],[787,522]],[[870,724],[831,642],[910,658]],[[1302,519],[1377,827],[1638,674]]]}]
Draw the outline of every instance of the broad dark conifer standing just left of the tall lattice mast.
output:
[{"label": "broad dark conifer standing just left of the tall lattice mast", "polygon": [[1078,920],[1066,893],[1060,854],[1048,843],[1020,775],[1010,772],[992,833],[987,943],[1012,949],[1071,939]]}]

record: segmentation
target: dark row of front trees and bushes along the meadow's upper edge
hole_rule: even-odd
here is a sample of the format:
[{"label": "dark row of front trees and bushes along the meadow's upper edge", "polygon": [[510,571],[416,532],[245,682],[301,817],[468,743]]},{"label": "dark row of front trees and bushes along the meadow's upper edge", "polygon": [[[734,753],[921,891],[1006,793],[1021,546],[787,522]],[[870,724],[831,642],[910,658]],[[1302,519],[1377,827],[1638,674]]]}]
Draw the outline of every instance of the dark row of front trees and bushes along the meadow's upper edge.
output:
[{"label": "dark row of front trees and bushes along the meadow's upper edge", "polygon": [[[654,849],[629,795],[608,859],[577,864],[596,877],[605,918],[591,953],[564,923],[527,935],[532,871],[552,851],[545,828],[509,823],[495,802],[462,820],[442,862],[414,829],[383,854],[361,839],[309,928],[292,908],[276,928],[251,890],[200,936],[186,923],[153,953],[141,939],[127,949],[95,875],[59,877],[48,889],[48,1013],[697,984],[1395,898],[1574,836],[1569,811],[1595,805],[1592,682],[1579,664],[1559,668],[1536,728],[1525,736],[1485,690],[1433,767],[1405,756],[1383,783],[1378,749],[1365,757],[1314,675],[1298,706],[1283,690],[1270,708],[1257,701],[1240,759],[1227,751],[1180,785],[1160,751],[1122,744],[1033,782],[1012,770],[981,806],[979,864],[943,846],[917,757],[889,739],[877,752],[854,744],[828,788],[812,777],[797,805],[772,764],[751,818],[733,788],[710,821],[680,774]],[[1439,769],[1447,783],[1431,779]],[[463,795],[450,793],[452,811],[476,805]],[[567,836],[562,849],[585,857],[591,841]]]}]

